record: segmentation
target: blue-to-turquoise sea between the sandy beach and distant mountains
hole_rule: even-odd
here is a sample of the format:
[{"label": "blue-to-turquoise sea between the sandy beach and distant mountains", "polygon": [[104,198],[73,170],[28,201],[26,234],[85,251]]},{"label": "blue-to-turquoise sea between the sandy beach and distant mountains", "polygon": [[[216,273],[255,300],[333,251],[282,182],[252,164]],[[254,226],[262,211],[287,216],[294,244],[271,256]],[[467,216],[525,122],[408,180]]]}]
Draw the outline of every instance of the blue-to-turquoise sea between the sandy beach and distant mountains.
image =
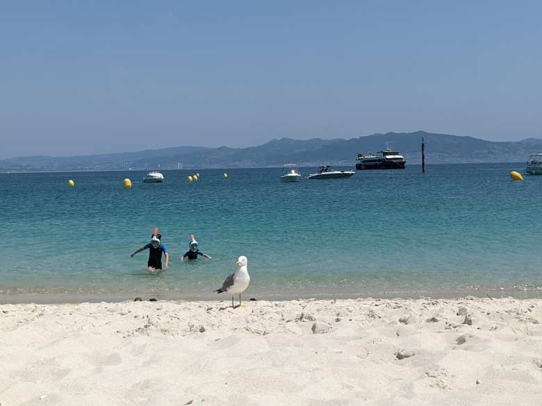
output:
[{"label": "blue-to-turquoise sea between the sandy beach and distant mountains", "polygon": [[[0,296],[213,298],[239,255],[247,296],[542,296],[542,176],[522,164],[358,171],[280,183],[280,169],[0,174]],[[306,176],[309,169],[302,169]],[[133,188],[122,188],[129,177]],[[73,178],[76,187],[69,188]],[[172,255],[147,274],[157,226]],[[188,236],[213,256],[181,264]]]}]

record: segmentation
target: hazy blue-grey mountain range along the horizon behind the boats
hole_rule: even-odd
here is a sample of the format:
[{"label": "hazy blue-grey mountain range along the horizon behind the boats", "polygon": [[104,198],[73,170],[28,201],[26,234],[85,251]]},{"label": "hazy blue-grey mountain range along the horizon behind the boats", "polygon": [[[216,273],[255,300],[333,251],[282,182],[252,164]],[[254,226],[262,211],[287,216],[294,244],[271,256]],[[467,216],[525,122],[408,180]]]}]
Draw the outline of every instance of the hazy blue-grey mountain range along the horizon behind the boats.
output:
[{"label": "hazy blue-grey mountain range along the horizon behind the boats", "polygon": [[350,139],[281,138],[247,148],[176,146],[104,155],[30,156],[0,160],[0,171],[278,167],[286,163],[353,166],[356,153],[377,152],[386,148],[400,151],[407,158],[408,165],[420,163],[422,138],[425,138],[427,163],[520,162],[527,160],[529,154],[542,151],[541,138],[493,142],[475,137],[416,131]]}]

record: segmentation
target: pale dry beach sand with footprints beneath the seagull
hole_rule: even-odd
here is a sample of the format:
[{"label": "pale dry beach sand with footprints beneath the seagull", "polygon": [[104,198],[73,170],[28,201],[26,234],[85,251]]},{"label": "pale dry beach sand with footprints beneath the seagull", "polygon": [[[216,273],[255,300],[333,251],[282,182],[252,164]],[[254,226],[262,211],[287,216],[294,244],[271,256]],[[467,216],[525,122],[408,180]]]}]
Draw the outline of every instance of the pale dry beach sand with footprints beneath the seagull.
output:
[{"label": "pale dry beach sand with footprints beneath the seagull", "polygon": [[542,300],[0,306],[0,404],[542,405]]}]

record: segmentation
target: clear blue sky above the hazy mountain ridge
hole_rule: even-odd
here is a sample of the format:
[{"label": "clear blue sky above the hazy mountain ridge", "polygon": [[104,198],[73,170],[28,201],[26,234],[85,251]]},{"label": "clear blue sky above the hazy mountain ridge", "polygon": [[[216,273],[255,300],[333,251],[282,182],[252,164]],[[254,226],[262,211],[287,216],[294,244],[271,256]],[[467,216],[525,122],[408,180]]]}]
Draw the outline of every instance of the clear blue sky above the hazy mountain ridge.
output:
[{"label": "clear blue sky above the hazy mountain ridge", "polygon": [[542,136],[541,1],[3,1],[0,158]]}]

